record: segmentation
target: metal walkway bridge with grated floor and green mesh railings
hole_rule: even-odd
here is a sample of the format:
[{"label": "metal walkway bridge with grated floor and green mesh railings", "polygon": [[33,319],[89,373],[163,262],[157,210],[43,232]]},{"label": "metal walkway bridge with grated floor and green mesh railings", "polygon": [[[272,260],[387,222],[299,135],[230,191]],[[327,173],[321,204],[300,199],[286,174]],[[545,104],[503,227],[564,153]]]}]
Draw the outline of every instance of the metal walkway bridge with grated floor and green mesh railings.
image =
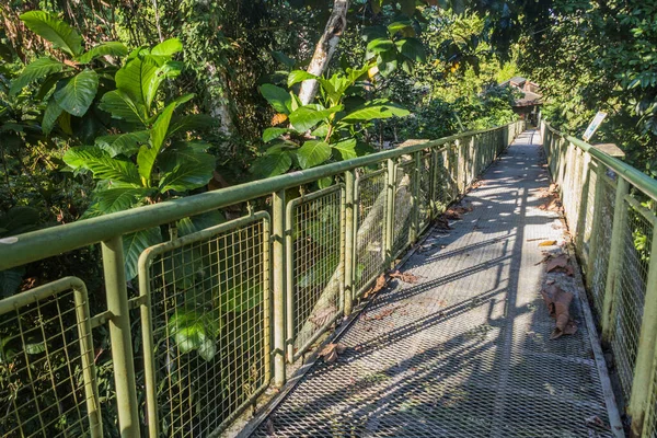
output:
[{"label": "metal walkway bridge with grated floor and green mesh railings", "polygon": [[656,201],[517,122],[1,239],[103,275],[0,300],[0,436],[657,437]]}]

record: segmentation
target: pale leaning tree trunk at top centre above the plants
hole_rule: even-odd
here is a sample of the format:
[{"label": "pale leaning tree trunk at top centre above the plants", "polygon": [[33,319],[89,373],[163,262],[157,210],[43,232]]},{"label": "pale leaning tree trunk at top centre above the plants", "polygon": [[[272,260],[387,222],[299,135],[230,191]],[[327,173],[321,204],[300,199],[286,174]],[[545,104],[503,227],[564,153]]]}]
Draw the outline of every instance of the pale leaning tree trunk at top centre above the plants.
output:
[{"label": "pale leaning tree trunk at top centre above the plants", "polygon": [[[315,51],[312,55],[310,65],[308,66],[308,72],[314,76],[322,76],[328,62],[335,54],[339,37],[347,27],[347,10],[349,9],[348,0],[334,0],[333,12],[326,23],[324,33],[315,47]],[[299,100],[303,105],[308,105],[312,102],[315,94],[318,93],[318,81],[308,80],[301,83],[301,91],[299,92]]]}]

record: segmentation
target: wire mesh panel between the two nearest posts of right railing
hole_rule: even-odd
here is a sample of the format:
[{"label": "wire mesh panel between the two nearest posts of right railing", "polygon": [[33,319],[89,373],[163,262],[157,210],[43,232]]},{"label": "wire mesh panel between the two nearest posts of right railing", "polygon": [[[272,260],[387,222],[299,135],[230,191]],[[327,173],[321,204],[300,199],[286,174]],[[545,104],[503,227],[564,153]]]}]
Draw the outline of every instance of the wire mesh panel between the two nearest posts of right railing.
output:
[{"label": "wire mesh panel between the two nearest posts of right railing", "polygon": [[621,388],[630,399],[646,293],[653,224],[639,209],[627,203],[624,206],[627,216],[623,223],[621,268],[616,279],[611,345]]}]

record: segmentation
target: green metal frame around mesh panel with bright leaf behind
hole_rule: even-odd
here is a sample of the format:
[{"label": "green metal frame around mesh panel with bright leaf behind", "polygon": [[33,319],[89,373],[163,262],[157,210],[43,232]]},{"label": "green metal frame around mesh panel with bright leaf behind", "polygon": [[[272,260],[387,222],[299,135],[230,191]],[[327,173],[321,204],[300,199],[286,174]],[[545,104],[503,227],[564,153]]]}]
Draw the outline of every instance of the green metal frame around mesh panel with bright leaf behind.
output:
[{"label": "green metal frame around mesh panel with bright leaf behind", "polygon": [[[158,395],[157,388],[159,382],[155,379],[154,371],[155,367],[155,343],[153,339],[153,323],[152,323],[152,290],[151,290],[151,278],[150,267],[155,258],[162,254],[169,253],[173,250],[181,249],[185,245],[189,245],[196,242],[203,242],[209,240],[216,235],[222,234],[227,231],[239,230],[254,222],[263,223],[263,314],[269,320],[269,324],[263,323],[264,326],[264,358],[265,358],[265,384],[255,389],[253,394],[249,396],[230,416],[228,416],[219,426],[214,434],[218,434],[230,425],[240,414],[244,412],[250,405],[252,405],[257,397],[265,392],[268,388],[268,382],[272,379],[272,357],[270,357],[270,334],[272,334],[272,319],[268,318],[270,313],[270,290],[269,290],[269,239],[270,239],[270,222],[272,219],[269,214],[266,211],[258,211],[251,216],[245,216],[239,219],[234,219],[224,223],[220,223],[215,227],[206,228],[205,230],[184,235],[171,240],[169,242],[160,243],[148,247],[139,256],[139,296],[140,313],[141,313],[141,336],[143,343],[143,361],[145,361],[145,374],[146,374],[146,405],[148,410],[148,434],[150,438],[160,437],[160,420],[158,412]],[[149,353],[146,353],[149,351]]]}]

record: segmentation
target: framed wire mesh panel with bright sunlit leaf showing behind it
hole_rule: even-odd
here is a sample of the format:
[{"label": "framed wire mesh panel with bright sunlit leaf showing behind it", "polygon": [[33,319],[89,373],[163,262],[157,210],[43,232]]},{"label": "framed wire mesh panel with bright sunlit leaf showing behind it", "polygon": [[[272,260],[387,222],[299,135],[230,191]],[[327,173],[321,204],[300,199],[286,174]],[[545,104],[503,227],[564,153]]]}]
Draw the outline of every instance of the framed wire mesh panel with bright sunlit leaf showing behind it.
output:
[{"label": "framed wire mesh panel with bright sunlit leaf showing behind it", "polygon": [[148,403],[157,406],[149,426],[171,437],[217,434],[270,380],[269,216],[152,246],[139,269],[150,302]]}]

